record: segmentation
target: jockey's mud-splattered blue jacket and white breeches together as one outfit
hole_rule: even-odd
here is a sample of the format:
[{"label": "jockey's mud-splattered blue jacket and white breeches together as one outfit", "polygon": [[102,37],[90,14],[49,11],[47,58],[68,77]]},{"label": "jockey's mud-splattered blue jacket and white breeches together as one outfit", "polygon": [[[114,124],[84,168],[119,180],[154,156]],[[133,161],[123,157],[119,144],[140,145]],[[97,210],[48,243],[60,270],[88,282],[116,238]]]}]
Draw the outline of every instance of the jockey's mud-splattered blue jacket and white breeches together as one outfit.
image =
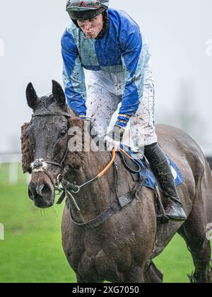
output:
[{"label": "jockey's mud-splattered blue jacket and white breeches together as one outfit", "polygon": [[[64,87],[69,106],[78,115],[93,117],[107,129],[121,102],[116,124],[131,120],[135,146],[157,142],[154,127],[154,82],[151,52],[139,26],[124,12],[108,10],[110,27],[90,40],[71,24],[62,40]],[[86,92],[84,69],[89,74]]]}]

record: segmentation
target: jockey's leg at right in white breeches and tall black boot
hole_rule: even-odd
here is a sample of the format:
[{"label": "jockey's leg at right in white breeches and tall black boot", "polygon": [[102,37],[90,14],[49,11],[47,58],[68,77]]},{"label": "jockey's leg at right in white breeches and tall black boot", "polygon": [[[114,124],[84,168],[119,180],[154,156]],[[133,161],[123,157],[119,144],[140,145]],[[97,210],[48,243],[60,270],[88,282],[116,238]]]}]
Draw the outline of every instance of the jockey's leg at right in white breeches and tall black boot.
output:
[{"label": "jockey's leg at right in white breeches and tall black boot", "polygon": [[163,187],[168,199],[167,216],[175,221],[185,221],[186,214],[182,208],[175,187],[170,163],[162,148],[158,145],[155,134],[155,91],[151,64],[146,68],[146,79],[143,98],[139,110],[131,119],[131,134],[135,146],[143,148],[144,154],[151,165],[153,173]]}]

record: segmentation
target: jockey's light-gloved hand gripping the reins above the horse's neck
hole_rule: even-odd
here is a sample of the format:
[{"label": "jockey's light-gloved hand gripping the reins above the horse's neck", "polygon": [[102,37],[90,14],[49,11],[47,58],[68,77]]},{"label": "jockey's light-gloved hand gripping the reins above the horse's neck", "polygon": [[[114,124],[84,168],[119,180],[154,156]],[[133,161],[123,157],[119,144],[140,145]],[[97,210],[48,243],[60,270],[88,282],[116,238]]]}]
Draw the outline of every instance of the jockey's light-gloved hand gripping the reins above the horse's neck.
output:
[{"label": "jockey's light-gloved hand gripping the reins above the horse's neck", "polygon": [[116,151],[119,148],[123,136],[124,136],[124,128],[119,127],[119,126],[114,126],[112,131],[110,131],[106,136],[105,136],[105,143],[107,145],[108,151],[112,151],[112,148],[114,148]]}]

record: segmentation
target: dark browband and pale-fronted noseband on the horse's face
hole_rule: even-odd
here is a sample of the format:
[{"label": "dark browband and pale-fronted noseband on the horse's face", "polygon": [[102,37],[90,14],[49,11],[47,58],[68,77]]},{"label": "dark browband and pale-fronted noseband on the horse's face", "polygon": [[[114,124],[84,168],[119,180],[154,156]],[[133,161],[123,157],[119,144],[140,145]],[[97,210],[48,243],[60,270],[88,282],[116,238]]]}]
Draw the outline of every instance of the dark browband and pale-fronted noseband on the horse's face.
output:
[{"label": "dark browband and pale-fronted noseband on the horse's face", "polygon": [[[42,113],[35,113],[33,114],[32,117],[45,117],[47,115],[57,115],[57,116],[64,115],[65,117],[68,117],[68,118],[71,117],[71,115],[68,112],[42,112]],[[54,162],[54,161],[49,161],[44,159],[35,160],[30,166],[31,173],[44,172],[49,177],[49,180],[51,180],[52,185],[55,188],[54,180],[47,171],[47,164],[54,165],[62,169],[62,163],[64,163],[64,160],[67,156],[68,151],[69,151],[69,147],[67,146],[66,153],[60,162]]]}]

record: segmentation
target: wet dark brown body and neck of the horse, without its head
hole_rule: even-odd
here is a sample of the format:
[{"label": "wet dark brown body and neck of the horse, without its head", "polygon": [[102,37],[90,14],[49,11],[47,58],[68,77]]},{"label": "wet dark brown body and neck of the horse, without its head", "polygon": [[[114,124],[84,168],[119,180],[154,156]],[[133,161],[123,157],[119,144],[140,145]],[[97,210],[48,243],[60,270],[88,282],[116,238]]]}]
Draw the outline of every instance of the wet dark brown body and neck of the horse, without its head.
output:
[{"label": "wet dark brown body and neck of the horse, without its head", "polygon": [[[201,149],[187,134],[165,125],[157,127],[157,134],[163,150],[184,175],[185,181],[178,187],[178,193],[188,216],[187,221],[184,224],[170,222],[157,228],[154,192],[145,187],[140,192],[139,201],[135,200],[110,221],[93,230],[73,227],[65,209],[62,228],[64,251],[78,281],[140,282],[148,280],[148,277],[158,281],[160,278],[155,270],[145,273],[146,263],[164,250],[177,231],[192,251],[196,281],[211,281],[211,252],[206,240],[206,226],[212,219],[211,170]],[[78,176],[87,175],[86,168],[91,166],[92,173],[98,172],[102,161],[108,161],[107,154],[90,155],[85,172]],[[132,187],[131,177],[122,168],[119,158],[117,162],[122,171],[120,194],[124,194]],[[98,185],[91,185],[77,197],[84,214],[83,211],[82,215],[75,212],[76,221],[93,219],[114,201],[113,176],[111,169]],[[81,178],[78,182],[82,182]]]}]

